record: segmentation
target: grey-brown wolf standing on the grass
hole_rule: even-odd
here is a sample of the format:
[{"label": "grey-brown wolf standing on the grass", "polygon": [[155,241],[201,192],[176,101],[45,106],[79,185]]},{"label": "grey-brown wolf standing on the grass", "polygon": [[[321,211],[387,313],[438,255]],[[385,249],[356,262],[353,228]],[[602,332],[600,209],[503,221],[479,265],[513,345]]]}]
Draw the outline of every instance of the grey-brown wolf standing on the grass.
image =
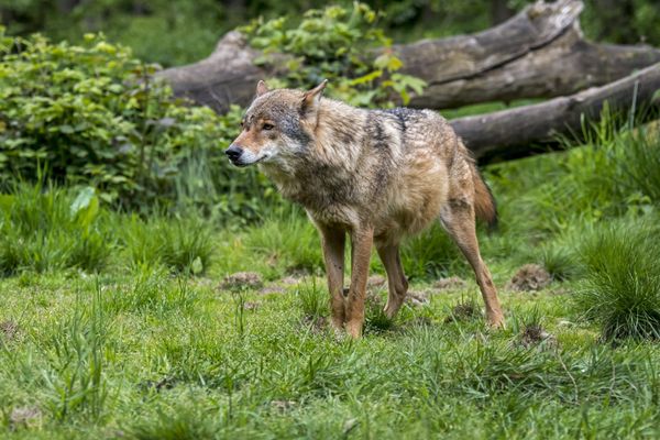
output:
[{"label": "grey-brown wolf standing on the grass", "polygon": [[[332,324],[362,334],[372,246],[387,272],[385,312],[393,318],[408,289],[399,257],[405,235],[439,219],[470,262],[493,327],[504,324],[475,217],[497,219],[490,189],[447,120],[430,110],[359,109],[311,90],[270,90],[260,81],[226,151],[237,166],[258,164],[284,197],[300,204],[321,235]],[[344,245],[351,284],[343,294]]]}]

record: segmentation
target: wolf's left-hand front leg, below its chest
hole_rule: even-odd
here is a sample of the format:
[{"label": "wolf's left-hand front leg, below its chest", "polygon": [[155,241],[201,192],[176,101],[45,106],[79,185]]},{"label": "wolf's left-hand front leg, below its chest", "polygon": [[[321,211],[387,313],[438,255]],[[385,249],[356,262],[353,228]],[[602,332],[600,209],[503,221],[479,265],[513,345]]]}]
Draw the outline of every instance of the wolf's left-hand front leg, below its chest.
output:
[{"label": "wolf's left-hand front leg, below its chest", "polygon": [[345,321],[345,299],[343,296],[343,264],[346,233],[344,230],[318,226],[321,232],[330,307],[332,309],[332,327],[341,331]]}]

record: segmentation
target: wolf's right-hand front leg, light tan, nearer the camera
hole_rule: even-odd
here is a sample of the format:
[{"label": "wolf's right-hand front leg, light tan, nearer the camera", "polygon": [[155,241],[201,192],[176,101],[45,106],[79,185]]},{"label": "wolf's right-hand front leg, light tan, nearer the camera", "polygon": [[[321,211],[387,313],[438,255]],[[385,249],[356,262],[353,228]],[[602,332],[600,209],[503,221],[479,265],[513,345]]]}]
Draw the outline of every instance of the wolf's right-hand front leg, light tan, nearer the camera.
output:
[{"label": "wolf's right-hand front leg, light tan, nearer the camera", "polygon": [[374,230],[371,227],[351,232],[351,289],[346,302],[346,332],[352,338],[362,336],[366,278],[373,242]]}]

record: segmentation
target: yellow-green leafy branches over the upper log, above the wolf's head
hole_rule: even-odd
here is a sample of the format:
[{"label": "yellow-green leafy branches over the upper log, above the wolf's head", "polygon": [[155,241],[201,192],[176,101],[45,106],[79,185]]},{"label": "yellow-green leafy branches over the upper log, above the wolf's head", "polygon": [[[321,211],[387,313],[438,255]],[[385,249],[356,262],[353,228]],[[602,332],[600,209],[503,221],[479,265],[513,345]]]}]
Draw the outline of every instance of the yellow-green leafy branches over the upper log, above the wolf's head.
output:
[{"label": "yellow-green leafy branches over the upper log, above the wolf's head", "polygon": [[[309,10],[299,23],[287,18],[258,19],[240,30],[252,46],[264,51],[257,63],[284,63],[287,74],[277,85],[311,88],[329,79],[330,96],[354,106],[393,106],[397,98],[406,105],[426,84],[398,72],[403,63],[392,41],[376,28],[378,18],[367,4],[355,2],[352,10],[339,6]],[[367,61],[365,54],[376,47],[385,48]],[[274,58],[271,53],[288,57]]]}]

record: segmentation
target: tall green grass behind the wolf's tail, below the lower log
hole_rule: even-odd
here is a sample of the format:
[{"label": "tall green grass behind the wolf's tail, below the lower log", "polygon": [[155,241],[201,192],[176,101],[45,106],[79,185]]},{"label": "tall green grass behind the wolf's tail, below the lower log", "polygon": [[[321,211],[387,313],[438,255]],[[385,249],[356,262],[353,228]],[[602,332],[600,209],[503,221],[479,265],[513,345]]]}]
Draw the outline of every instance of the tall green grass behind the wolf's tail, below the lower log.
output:
[{"label": "tall green grass behind the wolf's tail, below the lower log", "polygon": [[576,223],[650,212],[660,194],[658,135],[652,125],[625,121],[605,107],[597,123],[583,121],[581,147],[565,140],[565,153],[492,166],[502,230],[524,230],[540,241]]}]

